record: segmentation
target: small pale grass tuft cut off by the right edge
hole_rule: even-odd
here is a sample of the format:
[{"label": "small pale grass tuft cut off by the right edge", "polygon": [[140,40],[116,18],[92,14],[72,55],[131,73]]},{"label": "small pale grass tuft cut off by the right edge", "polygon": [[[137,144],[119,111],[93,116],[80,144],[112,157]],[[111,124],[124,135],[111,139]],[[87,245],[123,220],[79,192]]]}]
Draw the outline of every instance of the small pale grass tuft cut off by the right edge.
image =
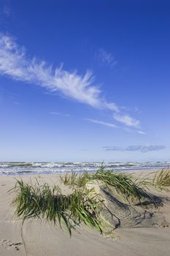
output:
[{"label": "small pale grass tuft cut off by the right edge", "polygon": [[159,189],[170,191],[170,169],[162,169],[155,173],[152,180],[152,185]]}]

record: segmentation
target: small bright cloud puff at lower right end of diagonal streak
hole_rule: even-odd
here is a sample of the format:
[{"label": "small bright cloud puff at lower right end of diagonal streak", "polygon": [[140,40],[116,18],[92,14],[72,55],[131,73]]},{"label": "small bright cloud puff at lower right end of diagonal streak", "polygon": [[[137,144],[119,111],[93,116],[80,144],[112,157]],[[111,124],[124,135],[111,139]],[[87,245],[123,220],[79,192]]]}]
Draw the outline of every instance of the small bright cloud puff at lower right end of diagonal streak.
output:
[{"label": "small bright cloud puff at lower right end of diagonal streak", "polygon": [[139,120],[136,120],[135,118],[132,118],[131,116],[128,115],[120,115],[115,113],[113,118],[116,121],[119,121],[122,124],[125,124],[128,127],[139,127]]}]

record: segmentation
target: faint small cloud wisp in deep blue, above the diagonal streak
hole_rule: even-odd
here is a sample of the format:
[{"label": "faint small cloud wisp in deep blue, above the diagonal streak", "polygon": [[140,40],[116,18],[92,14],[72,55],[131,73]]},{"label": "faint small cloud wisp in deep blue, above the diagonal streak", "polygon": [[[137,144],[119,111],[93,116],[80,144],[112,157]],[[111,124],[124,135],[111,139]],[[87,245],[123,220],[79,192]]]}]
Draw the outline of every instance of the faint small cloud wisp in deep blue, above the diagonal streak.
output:
[{"label": "faint small cloud wisp in deep blue, above the diagonal streak", "polygon": [[103,64],[109,65],[109,67],[114,67],[117,64],[115,56],[112,53],[107,52],[104,48],[98,49],[98,60]]}]

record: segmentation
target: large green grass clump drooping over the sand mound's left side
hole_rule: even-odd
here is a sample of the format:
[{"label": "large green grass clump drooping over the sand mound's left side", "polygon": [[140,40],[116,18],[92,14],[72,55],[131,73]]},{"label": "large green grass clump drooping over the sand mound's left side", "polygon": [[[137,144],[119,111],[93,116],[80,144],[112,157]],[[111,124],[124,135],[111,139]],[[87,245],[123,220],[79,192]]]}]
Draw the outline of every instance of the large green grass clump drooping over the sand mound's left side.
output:
[{"label": "large green grass clump drooping over the sand mound's left side", "polygon": [[58,186],[48,184],[28,184],[17,181],[13,191],[16,196],[12,204],[16,207],[15,214],[22,217],[23,222],[30,218],[45,218],[60,227],[66,227],[72,235],[80,223],[99,230],[104,229],[104,219],[100,216],[101,202],[96,195],[89,196],[90,191],[74,189],[71,195],[62,195]]}]

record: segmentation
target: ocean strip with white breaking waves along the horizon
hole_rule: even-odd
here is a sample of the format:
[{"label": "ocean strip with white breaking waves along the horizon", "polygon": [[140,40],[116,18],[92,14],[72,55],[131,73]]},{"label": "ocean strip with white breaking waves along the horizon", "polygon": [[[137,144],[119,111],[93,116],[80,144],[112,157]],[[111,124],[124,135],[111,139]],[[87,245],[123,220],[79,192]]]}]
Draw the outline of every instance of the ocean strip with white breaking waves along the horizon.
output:
[{"label": "ocean strip with white breaking waves along the horizon", "polygon": [[105,170],[144,170],[170,167],[170,162],[0,162],[0,175],[95,172],[101,165]]}]

